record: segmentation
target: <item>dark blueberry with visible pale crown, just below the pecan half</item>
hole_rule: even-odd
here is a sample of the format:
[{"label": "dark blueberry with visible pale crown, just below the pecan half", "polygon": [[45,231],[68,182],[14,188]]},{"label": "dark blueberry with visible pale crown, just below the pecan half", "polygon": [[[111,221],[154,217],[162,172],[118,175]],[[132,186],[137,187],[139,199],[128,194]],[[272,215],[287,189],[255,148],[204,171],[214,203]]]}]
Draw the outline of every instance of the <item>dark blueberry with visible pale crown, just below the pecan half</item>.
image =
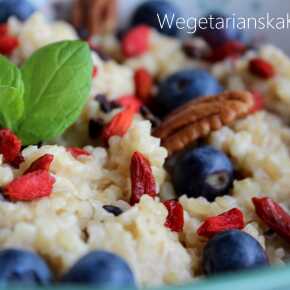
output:
[{"label": "dark blueberry with visible pale crown, just below the pecan half", "polygon": [[232,162],[211,146],[182,152],[172,169],[172,181],[178,195],[203,196],[209,201],[227,194],[233,179]]}]

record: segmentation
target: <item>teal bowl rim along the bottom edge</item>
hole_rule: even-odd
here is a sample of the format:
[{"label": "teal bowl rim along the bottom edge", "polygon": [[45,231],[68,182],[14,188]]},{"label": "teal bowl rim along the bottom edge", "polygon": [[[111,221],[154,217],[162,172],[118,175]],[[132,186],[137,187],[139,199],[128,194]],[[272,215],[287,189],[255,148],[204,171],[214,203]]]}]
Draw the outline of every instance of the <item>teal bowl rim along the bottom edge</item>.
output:
[{"label": "teal bowl rim along the bottom edge", "polygon": [[[23,286],[0,289],[25,290]],[[27,288],[29,290],[108,290],[71,285],[68,287]],[[179,286],[146,288],[146,290],[289,290],[290,264],[286,266],[267,267],[262,270],[220,275],[209,279],[196,280]],[[109,289],[132,290],[132,289]],[[142,290],[142,289],[140,289]]]}]

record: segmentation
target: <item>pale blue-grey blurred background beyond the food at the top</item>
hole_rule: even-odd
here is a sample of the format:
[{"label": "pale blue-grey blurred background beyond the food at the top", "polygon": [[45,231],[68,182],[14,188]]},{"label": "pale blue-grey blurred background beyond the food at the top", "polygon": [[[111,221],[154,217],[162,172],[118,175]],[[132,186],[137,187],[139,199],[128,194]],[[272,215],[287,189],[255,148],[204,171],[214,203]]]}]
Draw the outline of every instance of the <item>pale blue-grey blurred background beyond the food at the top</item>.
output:
[{"label": "pale blue-grey blurred background beyond the food at the top", "polygon": [[[2,0],[0,0],[1,2]],[[13,0],[15,1],[15,0]],[[17,0],[21,1],[21,0]],[[73,0],[29,0],[49,17],[63,17],[69,11]],[[109,0],[108,0],[109,1]],[[272,17],[290,14],[290,0],[168,0],[179,6],[184,17],[196,17],[218,11],[242,17],[261,17],[270,13]],[[125,26],[134,8],[144,0],[118,0],[120,25]],[[57,15],[55,14],[57,12]],[[289,16],[290,18],[290,16]],[[290,28],[290,20],[289,20]],[[271,42],[290,54],[290,29],[246,31],[249,36]]]}]

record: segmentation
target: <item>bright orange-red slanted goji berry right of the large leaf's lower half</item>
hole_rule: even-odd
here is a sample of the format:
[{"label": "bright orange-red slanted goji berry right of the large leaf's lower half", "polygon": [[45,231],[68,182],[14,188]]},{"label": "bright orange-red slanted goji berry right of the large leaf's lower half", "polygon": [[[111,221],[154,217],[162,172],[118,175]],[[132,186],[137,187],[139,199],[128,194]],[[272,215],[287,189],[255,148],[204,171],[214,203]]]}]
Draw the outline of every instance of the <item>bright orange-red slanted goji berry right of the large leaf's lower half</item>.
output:
[{"label": "bright orange-red slanted goji berry right of the large leaf's lower half", "polygon": [[122,112],[119,112],[113,117],[103,129],[102,140],[105,144],[108,143],[112,136],[124,136],[130,128],[136,108],[129,106]]}]

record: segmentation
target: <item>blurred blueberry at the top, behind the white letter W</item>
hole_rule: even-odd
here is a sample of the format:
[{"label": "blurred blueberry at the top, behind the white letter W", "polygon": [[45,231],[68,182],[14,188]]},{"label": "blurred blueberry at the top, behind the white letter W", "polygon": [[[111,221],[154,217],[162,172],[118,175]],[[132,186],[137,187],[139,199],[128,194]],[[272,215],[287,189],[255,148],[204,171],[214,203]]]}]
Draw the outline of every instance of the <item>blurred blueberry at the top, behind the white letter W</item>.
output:
[{"label": "blurred blueberry at the top, behind the white letter W", "polygon": [[160,23],[163,23],[165,16],[168,17],[168,21],[171,23],[173,16],[175,16],[174,19],[180,17],[180,11],[175,5],[164,0],[145,1],[133,13],[131,24],[132,26],[147,24],[162,34],[177,36],[179,31],[176,25],[172,25],[170,28],[167,22],[164,22],[163,28],[161,27]]}]

